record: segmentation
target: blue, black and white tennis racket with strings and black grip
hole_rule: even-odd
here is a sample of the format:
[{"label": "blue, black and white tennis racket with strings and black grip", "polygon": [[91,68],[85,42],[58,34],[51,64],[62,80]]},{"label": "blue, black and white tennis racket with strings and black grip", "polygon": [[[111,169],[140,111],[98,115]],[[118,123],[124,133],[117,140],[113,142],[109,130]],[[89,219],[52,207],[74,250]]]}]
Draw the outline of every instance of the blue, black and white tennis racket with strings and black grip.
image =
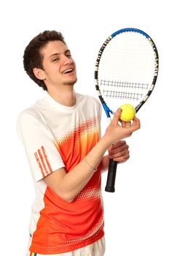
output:
[{"label": "blue, black and white tennis racket with strings and black grip", "polygon": [[[152,94],[158,74],[157,48],[148,34],[139,29],[121,29],[103,42],[95,63],[95,88],[106,116],[123,104],[135,113]],[[117,162],[109,161],[105,190],[114,192]]]}]

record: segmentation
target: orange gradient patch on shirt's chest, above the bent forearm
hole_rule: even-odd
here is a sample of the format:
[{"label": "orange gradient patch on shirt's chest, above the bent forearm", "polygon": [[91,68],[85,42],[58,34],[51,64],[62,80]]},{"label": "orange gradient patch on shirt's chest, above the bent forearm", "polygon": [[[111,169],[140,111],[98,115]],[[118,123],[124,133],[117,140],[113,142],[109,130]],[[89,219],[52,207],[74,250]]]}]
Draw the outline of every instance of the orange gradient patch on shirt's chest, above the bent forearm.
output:
[{"label": "orange gradient patch on shirt's chest, above the bent forearm", "polygon": [[57,141],[57,148],[68,172],[74,168],[100,139],[98,117],[89,118],[69,130]]}]

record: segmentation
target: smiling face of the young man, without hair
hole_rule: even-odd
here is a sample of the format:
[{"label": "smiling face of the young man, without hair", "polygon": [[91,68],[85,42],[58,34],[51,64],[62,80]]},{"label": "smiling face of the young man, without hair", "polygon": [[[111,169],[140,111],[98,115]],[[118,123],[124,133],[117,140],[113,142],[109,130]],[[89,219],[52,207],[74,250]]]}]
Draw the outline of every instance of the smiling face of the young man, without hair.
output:
[{"label": "smiling face of the young man, without hair", "polygon": [[46,86],[73,86],[76,83],[76,65],[71,52],[61,41],[51,41],[41,50]]}]

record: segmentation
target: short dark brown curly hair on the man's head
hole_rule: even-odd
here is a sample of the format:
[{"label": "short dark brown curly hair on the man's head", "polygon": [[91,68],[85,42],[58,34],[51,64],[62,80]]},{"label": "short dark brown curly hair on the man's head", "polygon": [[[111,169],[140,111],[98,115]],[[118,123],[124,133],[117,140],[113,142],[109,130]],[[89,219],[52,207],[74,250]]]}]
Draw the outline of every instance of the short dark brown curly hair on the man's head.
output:
[{"label": "short dark brown curly hair on the man's head", "polygon": [[41,54],[41,50],[45,45],[47,45],[47,42],[55,40],[61,41],[66,45],[63,35],[60,32],[55,30],[45,30],[44,32],[34,37],[31,42],[29,42],[23,55],[23,67],[25,72],[27,72],[28,76],[40,87],[42,87],[44,91],[47,91],[47,86],[45,85],[44,80],[36,78],[33,69],[35,67],[43,69],[43,56]]}]

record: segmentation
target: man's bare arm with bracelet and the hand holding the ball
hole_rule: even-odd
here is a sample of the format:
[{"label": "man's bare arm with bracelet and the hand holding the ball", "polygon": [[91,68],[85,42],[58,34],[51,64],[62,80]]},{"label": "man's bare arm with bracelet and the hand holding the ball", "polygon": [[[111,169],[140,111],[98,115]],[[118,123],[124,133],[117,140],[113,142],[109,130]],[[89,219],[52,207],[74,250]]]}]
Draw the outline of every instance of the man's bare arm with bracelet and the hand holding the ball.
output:
[{"label": "man's bare arm with bracelet and the hand holding the ball", "polygon": [[[106,129],[106,133],[87,154],[87,162],[83,159],[74,167],[71,172],[66,173],[65,168],[51,173],[44,178],[44,182],[49,186],[58,196],[68,202],[74,200],[76,195],[84,188],[90,178],[93,176],[93,168],[96,168],[106,150],[117,141],[129,137],[132,132],[140,128],[138,118],[135,118],[130,127],[122,127],[119,125],[119,116],[121,111],[117,110],[111,124]],[[93,168],[92,168],[93,167]]]}]

